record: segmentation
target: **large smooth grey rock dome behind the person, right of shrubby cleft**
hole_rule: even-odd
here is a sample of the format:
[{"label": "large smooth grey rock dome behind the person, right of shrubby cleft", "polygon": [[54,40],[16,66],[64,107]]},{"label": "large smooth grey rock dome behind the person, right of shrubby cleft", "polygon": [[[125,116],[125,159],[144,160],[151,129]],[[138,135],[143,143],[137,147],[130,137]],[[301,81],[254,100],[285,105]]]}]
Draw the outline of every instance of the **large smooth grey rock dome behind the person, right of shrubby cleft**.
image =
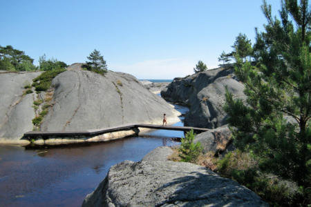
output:
[{"label": "large smooth grey rock dome behind the person, right of shrubby cleft", "polygon": [[68,70],[55,77],[52,85],[54,103],[41,126],[44,131],[162,124],[164,113],[169,124],[179,121],[179,112],[126,73],[109,71],[104,77],[86,70]]}]

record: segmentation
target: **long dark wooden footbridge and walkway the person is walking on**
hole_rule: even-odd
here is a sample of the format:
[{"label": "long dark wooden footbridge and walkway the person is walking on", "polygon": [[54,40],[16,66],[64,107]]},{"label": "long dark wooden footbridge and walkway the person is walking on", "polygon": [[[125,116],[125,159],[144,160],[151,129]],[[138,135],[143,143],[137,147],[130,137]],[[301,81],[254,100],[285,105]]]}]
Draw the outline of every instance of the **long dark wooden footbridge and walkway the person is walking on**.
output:
[{"label": "long dark wooden footbridge and walkway the person is walking on", "polygon": [[176,130],[188,132],[191,129],[195,133],[206,132],[209,129],[207,128],[194,128],[190,126],[162,126],[162,125],[153,125],[153,124],[124,124],[121,126],[115,126],[111,128],[100,128],[94,130],[78,130],[78,131],[62,131],[62,132],[44,132],[44,131],[30,131],[23,134],[26,139],[31,139],[32,137],[90,137],[96,135],[102,135],[109,132],[118,132],[124,130],[138,130],[138,128],[151,128],[159,130]]}]

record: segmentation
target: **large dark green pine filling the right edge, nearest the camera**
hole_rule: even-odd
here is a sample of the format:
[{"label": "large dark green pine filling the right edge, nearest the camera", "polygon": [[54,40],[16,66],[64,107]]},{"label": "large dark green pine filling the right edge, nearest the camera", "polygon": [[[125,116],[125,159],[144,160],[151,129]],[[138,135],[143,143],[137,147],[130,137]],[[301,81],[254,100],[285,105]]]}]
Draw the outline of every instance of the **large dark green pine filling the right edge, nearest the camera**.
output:
[{"label": "large dark green pine filling the right edge, nearest the camera", "polygon": [[[272,172],[311,187],[311,12],[307,0],[281,1],[281,20],[271,6],[261,7],[267,25],[256,35],[261,63],[238,63],[234,69],[245,85],[246,103],[226,93],[225,111],[242,150],[258,160],[263,172]],[[290,21],[292,17],[292,21]],[[238,53],[238,52],[237,52]],[[292,121],[290,121],[292,120]]]}]

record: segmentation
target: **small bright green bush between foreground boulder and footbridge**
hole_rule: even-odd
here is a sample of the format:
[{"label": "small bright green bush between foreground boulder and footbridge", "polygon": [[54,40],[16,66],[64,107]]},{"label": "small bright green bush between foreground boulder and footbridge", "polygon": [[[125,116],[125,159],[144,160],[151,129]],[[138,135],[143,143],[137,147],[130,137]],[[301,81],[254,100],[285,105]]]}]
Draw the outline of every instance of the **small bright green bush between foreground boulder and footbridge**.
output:
[{"label": "small bright green bush between foreground boulder and footbridge", "polygon": [[181,152],[180,157],[182,161],[187,161],[191,163],[196,163],[198,161],[198,156],[202,152],[202,147],[200,142],[198,141],[194,144],[194,130],[187,132],[186,137],[181,139],[181,144],[179,151]]}]

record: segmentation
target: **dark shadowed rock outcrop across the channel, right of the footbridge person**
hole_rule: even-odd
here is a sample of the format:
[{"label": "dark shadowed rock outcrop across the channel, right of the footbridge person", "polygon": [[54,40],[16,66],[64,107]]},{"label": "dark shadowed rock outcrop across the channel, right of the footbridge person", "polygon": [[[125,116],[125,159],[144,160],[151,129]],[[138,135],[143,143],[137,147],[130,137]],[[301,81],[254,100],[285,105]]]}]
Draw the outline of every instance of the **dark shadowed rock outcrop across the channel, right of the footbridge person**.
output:
[{"label": "dark shadowed rock outcrop across the channel, right of the footbridge person", "polygon": [[236,80],[233,69],[214,69],[185,78],[173,79],[161,96],[167,101],[185,103],[190,107],[185,126],[218,128],[227,124],[225,87],[235,98],[245,99],[244,86]]}]

